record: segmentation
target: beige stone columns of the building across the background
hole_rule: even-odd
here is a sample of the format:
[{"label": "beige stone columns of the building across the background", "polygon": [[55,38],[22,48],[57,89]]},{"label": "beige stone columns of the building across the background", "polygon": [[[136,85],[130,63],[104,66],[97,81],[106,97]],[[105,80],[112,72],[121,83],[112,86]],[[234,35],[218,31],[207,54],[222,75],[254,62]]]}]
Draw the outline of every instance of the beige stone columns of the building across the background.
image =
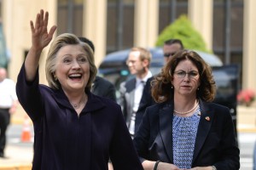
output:
[{"label": "beige stone columns of the building across the background", "polygon": [[[212,48],[212,2],[212,0],[189,0],[188,8],[189,19],[201,32],[208,48]],[[44,8],[49,11],[49,26],[55,25],[57,23],[57,1],[3,0],[2,3],[3,31],[11,53],[9,77],[16,80],[26,51],[31,46],[29,20],[35,20],[38,11]],[[96,56],[102,57],[106,53],[107,3],[107,0],[84,0],[83,34],[95,42]],[[134,45],[152,47],[158,36],[159,0],[135,0],[135,3]],[[244,1],[242,88],[256,90],[256,77],[253,76],[253,67],[256,65],[256,58],[253,54],[256,48],[256,41],[254,41],[256,11],[253,9],[255,5],[254,0]],[[39,70],[40,82],[45,84],[47,83],[44,77],[46,51],[47,49],[44,50]],[[96,65],[101,63],[102,57],[96,58]]]}]

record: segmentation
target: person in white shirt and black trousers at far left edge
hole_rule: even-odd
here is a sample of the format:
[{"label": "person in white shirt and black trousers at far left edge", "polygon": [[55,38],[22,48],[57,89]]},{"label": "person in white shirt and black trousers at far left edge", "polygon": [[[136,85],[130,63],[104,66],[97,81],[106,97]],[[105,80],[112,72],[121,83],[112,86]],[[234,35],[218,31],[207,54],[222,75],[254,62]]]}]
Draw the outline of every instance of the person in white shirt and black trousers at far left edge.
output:
[{"label": "person in white shirt and black trousers at far left edge", "polygon": [[10,122],[10,114],[16,111],[18,99],[15,82],[7,78],[7,72],[0,68],[0,158],[4,158],[6,130]]}]

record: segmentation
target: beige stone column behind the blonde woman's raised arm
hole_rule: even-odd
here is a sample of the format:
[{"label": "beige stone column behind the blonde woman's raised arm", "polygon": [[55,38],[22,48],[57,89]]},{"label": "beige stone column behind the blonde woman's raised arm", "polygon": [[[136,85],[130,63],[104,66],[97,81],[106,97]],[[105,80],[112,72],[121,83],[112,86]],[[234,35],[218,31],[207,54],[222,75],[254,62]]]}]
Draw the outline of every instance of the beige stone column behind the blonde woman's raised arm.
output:
[{"label": "beige stone column behind the blonde woman's raised arm", "polygon": [[[32,8],[33,7],[33,8]],[[3,31],[10,51],[9,77],[16,81],[20,67],[25,59],[25,52],[31,47],[30,20],[36,20],[40,9],[49,11],[49,28],[56,24],[56,0],[30,1],[8,0],[3,1]],[[45,48],[40,59],[40,83],[47,84],[45,79]]]}]

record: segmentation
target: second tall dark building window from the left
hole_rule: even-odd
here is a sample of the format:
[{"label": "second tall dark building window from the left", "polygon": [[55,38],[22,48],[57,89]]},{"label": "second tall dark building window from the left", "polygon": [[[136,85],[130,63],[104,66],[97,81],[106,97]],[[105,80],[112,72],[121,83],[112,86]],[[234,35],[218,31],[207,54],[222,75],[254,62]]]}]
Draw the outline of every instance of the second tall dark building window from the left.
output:
[{"label": "second tall dark building window from the left", "polygon": [[107,53],[133,46],[135,0],[108,0]]}]

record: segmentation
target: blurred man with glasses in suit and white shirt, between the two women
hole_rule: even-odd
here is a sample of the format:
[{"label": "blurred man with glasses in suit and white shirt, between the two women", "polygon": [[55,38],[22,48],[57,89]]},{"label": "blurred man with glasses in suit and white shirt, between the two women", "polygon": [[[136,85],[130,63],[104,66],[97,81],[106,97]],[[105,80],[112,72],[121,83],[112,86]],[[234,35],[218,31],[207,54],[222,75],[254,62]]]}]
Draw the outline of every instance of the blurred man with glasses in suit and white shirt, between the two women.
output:
[{"label": "blurred man with glasses in suit and white shirt, between the two women", "polygon": [[126,65],[135,77],[120,84],[120,105],[122,106],[125,121],[131,136],[134,135],[135,117],[143,95],[145,82],[152,73],[149,65],[152,55],[145,48],[131,48]]}]

